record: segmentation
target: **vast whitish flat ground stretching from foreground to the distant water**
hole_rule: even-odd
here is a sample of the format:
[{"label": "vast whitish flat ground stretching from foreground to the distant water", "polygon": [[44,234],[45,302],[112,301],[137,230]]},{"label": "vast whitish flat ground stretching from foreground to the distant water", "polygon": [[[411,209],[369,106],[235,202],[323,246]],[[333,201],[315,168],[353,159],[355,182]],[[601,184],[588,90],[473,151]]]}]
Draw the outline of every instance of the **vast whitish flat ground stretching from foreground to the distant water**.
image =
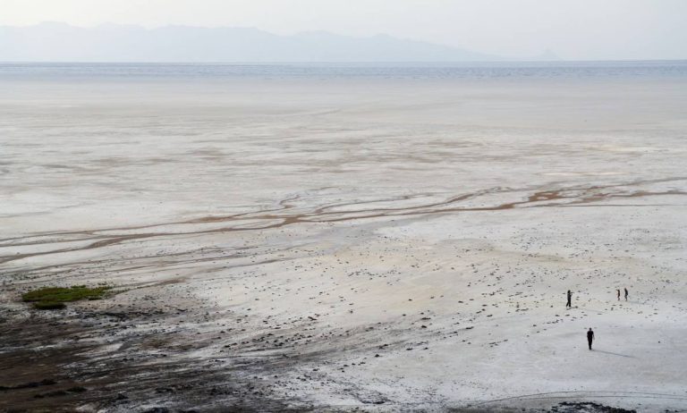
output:
[{"label": "vast whitish flat ground stretching from foreground to the distant water", "polygon": [[4,86],[0,409],[687,409],[687,80]]}]

